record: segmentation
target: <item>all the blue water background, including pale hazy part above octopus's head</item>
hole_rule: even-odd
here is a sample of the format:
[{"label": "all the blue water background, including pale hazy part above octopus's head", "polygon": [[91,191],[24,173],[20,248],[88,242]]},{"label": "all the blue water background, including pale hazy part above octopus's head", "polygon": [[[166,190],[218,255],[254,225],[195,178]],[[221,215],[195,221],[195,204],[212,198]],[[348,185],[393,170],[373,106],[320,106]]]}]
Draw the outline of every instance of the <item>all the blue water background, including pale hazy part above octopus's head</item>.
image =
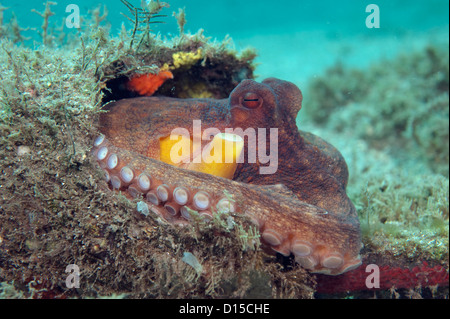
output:
[{"label": "all the blue water background, including pale hazy part above octopus's head", "polygon": [[[5,22],[14,11],[24,32],[38,40],[42,18],[31,9],[44,10],[43,0],[0,3],[5,11]],[[77,4],[81,15],[106,4],[112,34],[117,34],[122,23],[131,24],[122,16],[126,7],[119,0],[88,1],[58,0],[52,6],[55,16],[50,25],[60,27],[68,15],[68,4]],[[139,6],[140,0],[130,0]],[[291,80],[300,86],[313,76],[341,61],[349,66],[364,67],[374,60],[389,58],[399,52],[418,49],[428,43],[448,43],[449,2],[447,0],[167,0],[164,24],[155,24],[154,31],[170,38],[178,34],[175,18],[178,8],[185,8],[186,31],[205,30],[205,35],[222,40],[226,35],[234,40],[235,48],[247,46],[257,49],[259,78],[276,76]],[[380,28],[368,29],[366,6],[374,3],[380,8]],[[70,31],[70,30],[69,30]],[[36,45],[28,41],[28,45]]]}]

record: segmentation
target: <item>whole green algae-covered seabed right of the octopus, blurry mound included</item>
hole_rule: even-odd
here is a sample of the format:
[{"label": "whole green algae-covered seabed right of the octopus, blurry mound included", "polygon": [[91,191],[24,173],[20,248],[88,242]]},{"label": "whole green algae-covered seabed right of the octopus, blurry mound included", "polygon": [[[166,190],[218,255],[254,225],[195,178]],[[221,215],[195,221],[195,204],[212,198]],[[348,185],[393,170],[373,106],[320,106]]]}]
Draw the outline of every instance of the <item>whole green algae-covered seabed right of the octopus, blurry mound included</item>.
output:
[{"label": "whole green algae-covered seabed right of the octopus, blurry mound included", "polygon": [[[367,262],[448,271],[448,56],[448,47],[429,44],[367,69],[338,63],[304,91],[299,125],[349,165]],[[404,296],[427,295],[422,288]],[[433,298],[448,296],[439,291]]]}]

